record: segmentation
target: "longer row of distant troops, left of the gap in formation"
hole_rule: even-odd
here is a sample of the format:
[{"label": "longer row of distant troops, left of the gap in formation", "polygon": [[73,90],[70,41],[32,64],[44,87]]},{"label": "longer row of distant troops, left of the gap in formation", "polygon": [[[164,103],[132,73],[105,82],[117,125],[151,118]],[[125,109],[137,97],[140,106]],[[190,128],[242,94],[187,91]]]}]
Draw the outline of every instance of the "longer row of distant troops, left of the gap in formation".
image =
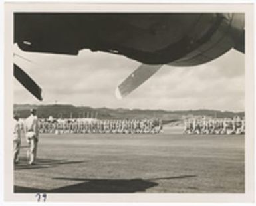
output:
[{"label": "longer row of distant troops, left of the gap in formation", "polygon": [[39,122],[41,133],[111,133],[111,134],[157,134],[162,131],[162,121],[143,120],[96,120],[92,122],[61,120],[56,122]]}]

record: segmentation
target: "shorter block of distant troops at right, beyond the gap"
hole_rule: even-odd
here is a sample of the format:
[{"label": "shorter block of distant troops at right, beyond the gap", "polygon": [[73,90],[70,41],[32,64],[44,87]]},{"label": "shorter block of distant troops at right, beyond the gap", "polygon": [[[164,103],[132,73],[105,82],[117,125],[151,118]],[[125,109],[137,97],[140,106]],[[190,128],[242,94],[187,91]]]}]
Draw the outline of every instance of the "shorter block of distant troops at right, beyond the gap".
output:
[{"label": "shorter block of distant troops at right, beyond the gap", "polygon": [[184,121],[184,134],[245,134],[245,119],[193,118]]}]

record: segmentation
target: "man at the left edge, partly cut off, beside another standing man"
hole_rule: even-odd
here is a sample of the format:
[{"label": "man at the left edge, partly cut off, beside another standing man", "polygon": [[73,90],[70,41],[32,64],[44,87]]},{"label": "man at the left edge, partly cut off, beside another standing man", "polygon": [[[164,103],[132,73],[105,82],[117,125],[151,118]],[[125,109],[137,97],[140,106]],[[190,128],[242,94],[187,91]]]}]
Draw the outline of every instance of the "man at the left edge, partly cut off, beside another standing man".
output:
[{"label": "man at the left edge, partly cut off, beside another standing man", "polygon": [[14,163],[19,162],[19,149],[21,147],[21,125],[19,124],[19,115],[14,114],[13,116],[13,161]]}]

